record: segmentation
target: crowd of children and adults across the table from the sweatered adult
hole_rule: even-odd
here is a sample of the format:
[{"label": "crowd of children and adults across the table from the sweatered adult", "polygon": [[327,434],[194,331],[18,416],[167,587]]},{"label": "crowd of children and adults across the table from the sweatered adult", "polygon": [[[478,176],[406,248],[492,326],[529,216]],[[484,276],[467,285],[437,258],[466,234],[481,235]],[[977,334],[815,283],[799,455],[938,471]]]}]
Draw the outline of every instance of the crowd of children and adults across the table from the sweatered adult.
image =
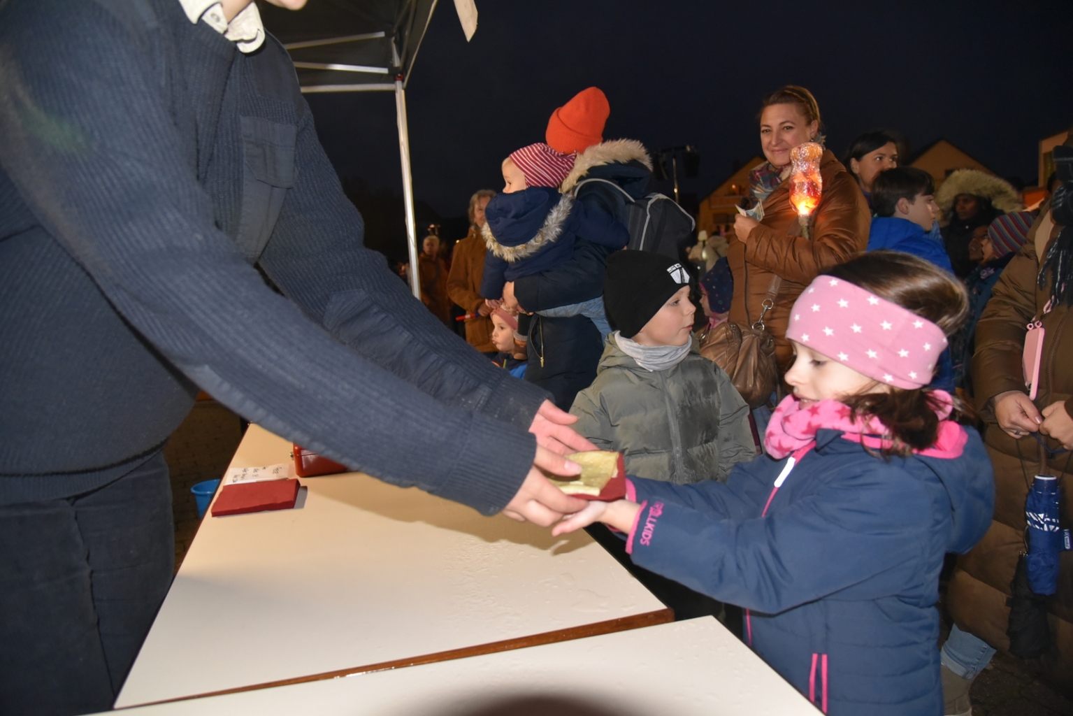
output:
[{"label": "crowd of children and adults across the table from the sweatered adult", "polygon": [[[972,681],[1016,639],[1005,600],[1027,549],[1027,477],[1064,476],[1073,448],[1073,371],[1057,360],[1060,344],[1044,352],[1034,401],[1021,366],[1032,321],[1062,340],[1067,279],[1038,258],[1062,250],[1049,200],[1027,209],[1008,181],[976,170],[951,173],[937,191],[930,174],[899,163],[894,134],[872,131],[841,161],[824,148],[806,233],[790,155],[825,137],[815,99],[788,86],[761,106],[766,161],[743,208],[762,211],[735,217],[725,258],[691,266],[685,254],[620,250],[621,202],[645,195],[651,164],[636,143],[603,141],[608,113],[589,88],[555,111],[545,142],[504,160],[503,192],[474,194],[471,206],[491,195],[487,219],[471,211],[469,258],[452,272],[480,286],[459,294],[468,331],[479,311],[531,317],[528,332],[513,328],[512,371],[527,357],[526,380],[578,417],[574,429],[624,455],[629,499],[557,530],[604,522],[627,535],[634,564],[747,609],[746,638],[825,712],[971,713]],[[577,191],[576,178],[593,173],[606,179],[601,192]],[[1060,185],[1052,177],[1048,194]],[[813,315],[825,301],[843,315]],[[697,303],[706,321],[694,320]],[[881,318],[874,335],[866,321]],[[781,385],[753,410],[703,357],[700,339],[727,320],[760,321],[775,341]],[[825,429],[865,451],[832,443]],[[790,469],[780,458],[810,450],[799,492],[776,497]],[[697,540],[710,544],[696,550]],[[947,553],[961,555],[956,565]],[[940,580],[954,619],[941,649]],[[1073,681],[1073,593],[1060,587],[1041,609],[1052,627],[1040,653]]]}]

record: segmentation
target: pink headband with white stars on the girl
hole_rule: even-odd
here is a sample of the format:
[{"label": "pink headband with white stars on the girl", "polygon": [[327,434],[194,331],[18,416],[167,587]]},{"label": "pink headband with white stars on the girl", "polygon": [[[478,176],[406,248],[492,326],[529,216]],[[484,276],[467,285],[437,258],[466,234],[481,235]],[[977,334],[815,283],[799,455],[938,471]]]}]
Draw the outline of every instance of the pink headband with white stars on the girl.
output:
[{"label": "pink headband with white stars on the girl", "polygon": [[787,338],[906,390],[931,382],[946,348],[931,321],[833,276],[818,276],[794,303]]}]

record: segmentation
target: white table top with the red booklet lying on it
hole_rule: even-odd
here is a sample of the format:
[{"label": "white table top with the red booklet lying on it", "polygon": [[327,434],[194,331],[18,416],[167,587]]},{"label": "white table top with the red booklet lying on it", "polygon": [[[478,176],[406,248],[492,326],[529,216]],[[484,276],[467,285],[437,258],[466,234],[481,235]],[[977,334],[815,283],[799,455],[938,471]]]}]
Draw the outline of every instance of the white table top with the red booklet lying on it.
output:
[{"label": "white table top with the red booklet lying on it", "polygon": [[[289,452],[251,425],[232,467]],[[359,473],[302,483],[302,509],[205,517],[117,707],[664,610],[584,532],[554,538]]]}]

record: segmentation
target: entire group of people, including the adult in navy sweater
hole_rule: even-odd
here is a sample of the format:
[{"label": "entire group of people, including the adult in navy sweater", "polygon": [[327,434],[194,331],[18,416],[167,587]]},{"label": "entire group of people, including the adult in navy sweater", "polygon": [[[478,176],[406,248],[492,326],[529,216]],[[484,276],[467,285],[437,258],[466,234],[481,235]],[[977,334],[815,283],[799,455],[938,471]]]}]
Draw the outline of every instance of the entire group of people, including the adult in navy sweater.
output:
[{"label": "entire group of people, including the adult in navy sweater", "polygon": [[[618,530],[825,713],[969,714],[999,648],[1073,682],[1073,562],[1050,555],[1048,595],[1019,558],[1032,477],[1073,455],[1073,176],[1025,207],[972,170],[937,188],[884,132],[839,161],[783,87],[694,276],[623,250],[652,163],[588,88],[473,195],[450,268],[424,242],[422,305],[250,0],[10,0],[0,56],[0,712],[111,707],[172,578],[161,449],[199,390],[386,482]],[[770,338],[766,400],[705,357],[695,330],[723,325]],[[593,448],[623,453],[624,499],[553,484]]]}]

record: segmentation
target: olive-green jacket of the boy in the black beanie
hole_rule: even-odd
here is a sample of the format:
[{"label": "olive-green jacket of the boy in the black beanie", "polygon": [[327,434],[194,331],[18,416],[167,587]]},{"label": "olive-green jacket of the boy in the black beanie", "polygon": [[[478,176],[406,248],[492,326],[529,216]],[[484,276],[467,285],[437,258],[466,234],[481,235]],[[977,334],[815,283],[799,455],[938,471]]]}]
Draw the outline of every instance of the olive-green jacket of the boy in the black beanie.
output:
[{"label": "olive-green jacket of the boy in the black beanie", "polygon": [[607,337],[597,379],[574,398],[573,427],[601,450],[617,450],[626,471],[678,484],[725,480],[755,445],[749,406],[696,341],[681,363],[647,370]]}]

